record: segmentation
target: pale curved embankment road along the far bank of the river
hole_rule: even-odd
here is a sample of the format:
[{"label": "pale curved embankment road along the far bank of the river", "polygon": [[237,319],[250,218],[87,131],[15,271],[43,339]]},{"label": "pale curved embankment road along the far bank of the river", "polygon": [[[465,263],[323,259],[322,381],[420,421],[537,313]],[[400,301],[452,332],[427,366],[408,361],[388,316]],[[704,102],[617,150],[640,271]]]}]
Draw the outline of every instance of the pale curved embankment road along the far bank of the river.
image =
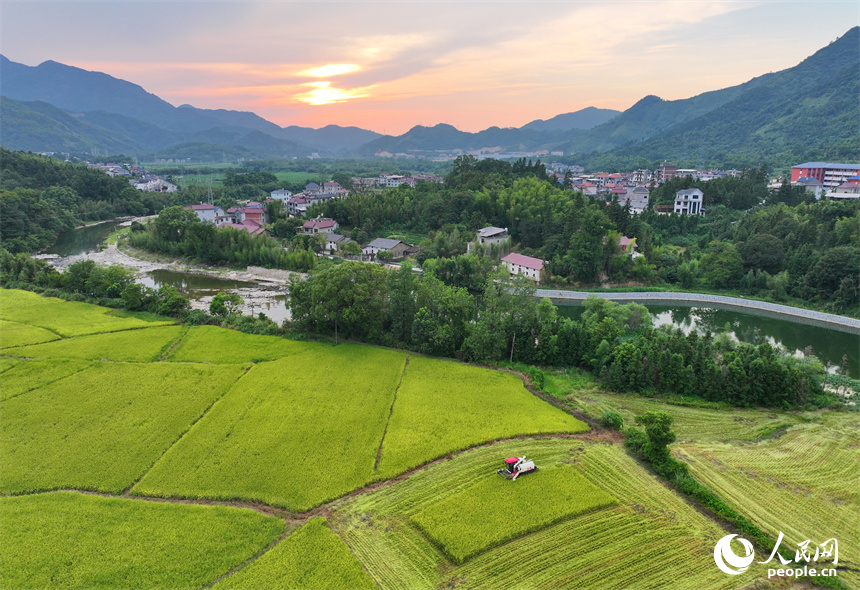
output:
[{"label": "pale curved embankment road along the far bank of the river", "polygon": [[728,307],[749,311],[759,315],[772,315],[775,317],[786,317],[792,320],[800,320],[811,324],[833,328],[842,332],[860,334],[860,320],[832,313],[811,311],[799,307],[767,303],[753,299],[741,299],[739,297],[726,297],[723,295],[708,295],[706,293],[590,293],[585,291],[557,291],[553,289],[538,289],[535,292],[538,297],[548,297],[553,301],[583,301],[591,296],[612,301],[636,302],[641,304],[663,304],[671,305],[675,302],[699,303],[707,306]]}]

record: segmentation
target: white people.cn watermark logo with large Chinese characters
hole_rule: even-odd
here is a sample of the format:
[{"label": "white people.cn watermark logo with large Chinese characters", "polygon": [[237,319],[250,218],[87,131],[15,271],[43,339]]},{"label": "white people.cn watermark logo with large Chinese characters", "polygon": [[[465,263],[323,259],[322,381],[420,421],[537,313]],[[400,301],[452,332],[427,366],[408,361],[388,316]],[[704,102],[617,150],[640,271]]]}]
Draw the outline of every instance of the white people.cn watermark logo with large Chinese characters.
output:
[{"label": "white people.cn watermark logo with large Chinese characters", "polygon": [[[744,549],[744,555],[738,555],[732,549],[731,543],[732,539],[737,537],[738,542]],[[793,568],[768,568],[767,577],[772,578],[774,576],[778,577],[787,577],[793,576],[798,578],[800,576],[835,576],[836,569],[835,568],[810,568],[809,563],[814,562],[817,563],[819,559],[827,559],[833,558],[833,565],[839,563],[839,542],[834,539],[827,539],[823,543],[818,546],[815,546],[815,554],[812,554],[812,548],[809,544],[812,542],[809,539],[806,541],[802,541],[797,544],[797,550],[794,552],[794,561],[791,559],[786,559],[779,553],[779,545],[782,543],[783,534],[782,531],[779,532],[779,537],[776,539],[776,544],[773,546],[773,551],[770,553],[770,557],[768,557],[765,561],[759,561],[758,563],[765,565],[771,562],[774,557],[779,559],[779,562],[782,565],[789,565],[791,563],[798,564]],[[726,535],[719,541],[717,541],[716,546],[714,547],[714,562],[717,564],[717,567],[720,568],[723,572],[736,576],[738,574],[742,574],[749,566],[752,564],[755,559],[755,551],[753,550],[752,543],[747,541],[746,539],[742,539],[737,535]],[[801,562],[806,562],[806,565],[801,567]]]}]

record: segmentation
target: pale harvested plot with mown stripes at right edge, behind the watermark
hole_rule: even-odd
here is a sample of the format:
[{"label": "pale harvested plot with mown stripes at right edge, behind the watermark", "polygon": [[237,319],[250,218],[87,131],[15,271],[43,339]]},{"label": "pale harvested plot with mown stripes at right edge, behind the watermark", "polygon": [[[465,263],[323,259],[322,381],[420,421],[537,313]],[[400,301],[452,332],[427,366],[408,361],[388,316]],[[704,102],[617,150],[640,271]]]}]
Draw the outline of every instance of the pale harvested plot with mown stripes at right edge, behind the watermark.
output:
[{"label": "pale harvested plot with mown stripes at right edge, behind the watermark", "polygon": [[860,587],[858,426],[856,413],[824,414],[753,445],[686,443],[672,448],[677,447],[696,479],[732,508],[774,539],[782,532],[787,553],[807,539],[814,552],[816,545],[836,538],[839,577]]}]

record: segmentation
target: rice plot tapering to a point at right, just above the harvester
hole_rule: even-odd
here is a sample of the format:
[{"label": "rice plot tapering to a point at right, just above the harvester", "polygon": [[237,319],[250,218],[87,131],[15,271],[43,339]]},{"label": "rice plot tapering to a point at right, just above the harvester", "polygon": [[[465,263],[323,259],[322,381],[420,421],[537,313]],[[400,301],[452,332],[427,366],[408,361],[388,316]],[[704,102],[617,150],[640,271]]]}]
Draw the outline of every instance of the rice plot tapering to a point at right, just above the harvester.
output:
[{"label": "rice plot tapering to a point at right, just above the harvester", "polygon": [[491,440],[587,430],[528,393],[514,375],[413,357],[397,393],[379,471],[390,477]]}]

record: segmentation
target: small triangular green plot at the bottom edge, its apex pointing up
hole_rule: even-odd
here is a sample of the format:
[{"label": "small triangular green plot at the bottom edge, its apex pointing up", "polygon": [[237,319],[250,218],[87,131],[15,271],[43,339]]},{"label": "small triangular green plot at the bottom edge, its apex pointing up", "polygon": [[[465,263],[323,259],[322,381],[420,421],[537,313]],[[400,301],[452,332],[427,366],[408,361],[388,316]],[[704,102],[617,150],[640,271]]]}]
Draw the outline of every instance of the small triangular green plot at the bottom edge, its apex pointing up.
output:
[{"label": "small triangular green plot at the bottom edge, its apex pointing up", "polygon": [[260,559],[217,583],[215,590],[376,590],[346,544],[313,518]]}]

